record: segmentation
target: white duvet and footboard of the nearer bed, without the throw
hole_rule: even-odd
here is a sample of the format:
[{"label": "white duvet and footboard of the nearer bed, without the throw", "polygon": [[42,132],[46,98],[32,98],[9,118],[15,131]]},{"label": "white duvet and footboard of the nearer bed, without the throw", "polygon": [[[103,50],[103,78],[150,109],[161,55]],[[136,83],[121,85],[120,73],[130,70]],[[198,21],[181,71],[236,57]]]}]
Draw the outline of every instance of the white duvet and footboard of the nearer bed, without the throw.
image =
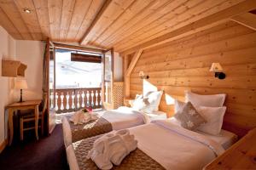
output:
[{"label": "white duvet and footboard of the nearer bed, without the throw", "polygon": [[[235,134],[222,131],[223,136],[205,135],[177,126],[170,120],[154,121],[129,128],[138,141],[138,148],[166,169],[201,169],[235,142]],[[227,144],[227,141],[229,141]],[[226,148],[227,149],[227,148]],[[67,147],[71,169],[78,169],[73,145]]]}]

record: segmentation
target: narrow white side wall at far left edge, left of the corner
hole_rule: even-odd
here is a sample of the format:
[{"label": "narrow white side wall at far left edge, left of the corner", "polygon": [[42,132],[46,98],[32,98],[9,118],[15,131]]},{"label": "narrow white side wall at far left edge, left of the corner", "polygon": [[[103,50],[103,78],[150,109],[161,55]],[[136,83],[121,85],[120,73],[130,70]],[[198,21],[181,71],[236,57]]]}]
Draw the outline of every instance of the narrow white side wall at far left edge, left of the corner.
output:
[{"label": "narrow white side wall at far left edge, left of the corner", "polygon": [[[15,59],[16,42],[10,37],[8,32],[0,26],[0,76],[2,76],[2,59]],[[7,114],[4,114],[4,106],[14,101],[14,78],[0,77],[0,144],[3,143],[5,135],[7,135]],[[5,115],[5,116],[4,116]],[[5,129],[5,132],[4,132]]]}]

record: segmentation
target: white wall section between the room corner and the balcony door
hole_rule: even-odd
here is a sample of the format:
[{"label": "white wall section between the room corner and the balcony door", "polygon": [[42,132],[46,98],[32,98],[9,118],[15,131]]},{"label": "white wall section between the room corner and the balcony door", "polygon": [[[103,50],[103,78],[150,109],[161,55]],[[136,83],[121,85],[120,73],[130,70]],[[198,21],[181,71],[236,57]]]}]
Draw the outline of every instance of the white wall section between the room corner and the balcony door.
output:
[{"label": "white wall section between the room corner and the balcony door", "polygon": [[[28,88],[23,90],[23,99],[42,99],[44,43],[16,41],[16,59],[27,65],[25,79]],[[15,90],[15,99],[20,99],[19,90]]]}]

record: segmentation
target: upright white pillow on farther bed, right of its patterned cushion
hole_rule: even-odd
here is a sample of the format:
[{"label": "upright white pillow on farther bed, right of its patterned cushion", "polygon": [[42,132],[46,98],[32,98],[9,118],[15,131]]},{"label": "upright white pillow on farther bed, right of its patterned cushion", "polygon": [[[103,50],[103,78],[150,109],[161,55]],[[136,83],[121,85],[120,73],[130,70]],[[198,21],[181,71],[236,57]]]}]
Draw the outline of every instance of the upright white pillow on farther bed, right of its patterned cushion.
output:
[{"label": "upright white pillow on farther bed, right of its patterned cushion", "polygon": [[[163,91],[157,92],[148,92],[145,94],[145,98],[148,98],[150,104],[150,109],[147,112],[151,113],[152,111],[159,111],[160,99],[162,97]],[[152,110],[152,111],[151,111]]]}]

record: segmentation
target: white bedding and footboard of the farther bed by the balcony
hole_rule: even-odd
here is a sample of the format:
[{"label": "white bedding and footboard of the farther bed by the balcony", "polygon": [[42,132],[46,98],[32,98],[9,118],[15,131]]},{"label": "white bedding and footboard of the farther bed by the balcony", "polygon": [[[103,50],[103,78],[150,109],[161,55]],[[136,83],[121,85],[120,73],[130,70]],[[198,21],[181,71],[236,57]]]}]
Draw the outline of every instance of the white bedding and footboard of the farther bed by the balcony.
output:
[{"label": "white bedding and footboard of the farther bed by the balcony", "polygon": [[[110,122],[113,130],[136,127],[148,123],[151,120],[166,119],[166,113],[163,111],[154,111],[151,114],[146,114],[142,111],[136,111],[130,107],[125,106],[119,107],[117,110],[101,111],[98,112],[98,115]],[[69,144],[72,144],[73,137],[69,120],[67,120],[66,117],[62,118],[62,128],[64,144],[67,147]]]}]

